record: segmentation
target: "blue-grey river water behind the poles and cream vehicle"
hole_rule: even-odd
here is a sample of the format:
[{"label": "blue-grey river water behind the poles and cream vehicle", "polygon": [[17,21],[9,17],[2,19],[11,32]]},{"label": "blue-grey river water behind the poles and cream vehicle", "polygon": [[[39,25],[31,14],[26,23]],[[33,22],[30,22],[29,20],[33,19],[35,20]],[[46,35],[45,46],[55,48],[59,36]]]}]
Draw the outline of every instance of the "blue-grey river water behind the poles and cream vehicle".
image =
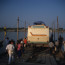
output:
[{"label": "blue-grey river water behind the poles and cream vehicle", "polygon": [[[55,32],[55,40],[57,40],[57,38],[58,38],[57,34],[58,33]],[[63,33],[60,32],[59,35],[61,35],[65,40],[65,32],[63,32]],[[49,37],[50,36],[51,36],[51,32],[50,32]],[[6,37],[9,37],[10,40],[13,39],[13,40],[16,41],[17,40],[17,32],[7,32]],[[27,37],[27,33],[26,33],[25,37]],[[19,37],[18,38],[19,39],[24,38],[24,32],[19,32]],[[0,32],[0,40],[3,40],[3,39],[4,39],[4,32]]]}]

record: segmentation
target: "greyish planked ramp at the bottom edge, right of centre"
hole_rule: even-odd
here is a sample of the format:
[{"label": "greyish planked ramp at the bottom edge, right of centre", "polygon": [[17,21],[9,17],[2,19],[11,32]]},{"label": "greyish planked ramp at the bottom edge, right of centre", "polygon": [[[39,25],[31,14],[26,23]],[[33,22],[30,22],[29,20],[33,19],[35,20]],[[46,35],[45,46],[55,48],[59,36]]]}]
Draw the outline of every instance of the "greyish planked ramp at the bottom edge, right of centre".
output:
[{"label": "greyish planked ramp at the bottom edge, right of centre", "polygon": [[40,64],[43,64],[43,65],[57,65],[54,57],[49,55],[49,54],[39,55],[39,57],[36,60],[36,63],[40,63]]}]

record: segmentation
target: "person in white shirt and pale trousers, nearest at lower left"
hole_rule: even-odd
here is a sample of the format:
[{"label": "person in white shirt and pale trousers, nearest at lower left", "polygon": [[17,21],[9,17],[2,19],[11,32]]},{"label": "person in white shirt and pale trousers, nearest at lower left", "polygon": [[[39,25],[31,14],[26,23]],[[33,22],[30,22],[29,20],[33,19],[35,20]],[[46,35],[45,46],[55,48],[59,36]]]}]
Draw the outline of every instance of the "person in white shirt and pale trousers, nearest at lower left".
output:
[{"label": "person in white shirt and pale trousers, nearest at lower left", "polygon": [[8,59],[8,64],[11,63],[11,60],[14,61],[14,45],[11,44],[12,41],[9,41],[9,44],[6,46],[6,50],[8,52],[8,56],[9,56],[9,59]]}]

